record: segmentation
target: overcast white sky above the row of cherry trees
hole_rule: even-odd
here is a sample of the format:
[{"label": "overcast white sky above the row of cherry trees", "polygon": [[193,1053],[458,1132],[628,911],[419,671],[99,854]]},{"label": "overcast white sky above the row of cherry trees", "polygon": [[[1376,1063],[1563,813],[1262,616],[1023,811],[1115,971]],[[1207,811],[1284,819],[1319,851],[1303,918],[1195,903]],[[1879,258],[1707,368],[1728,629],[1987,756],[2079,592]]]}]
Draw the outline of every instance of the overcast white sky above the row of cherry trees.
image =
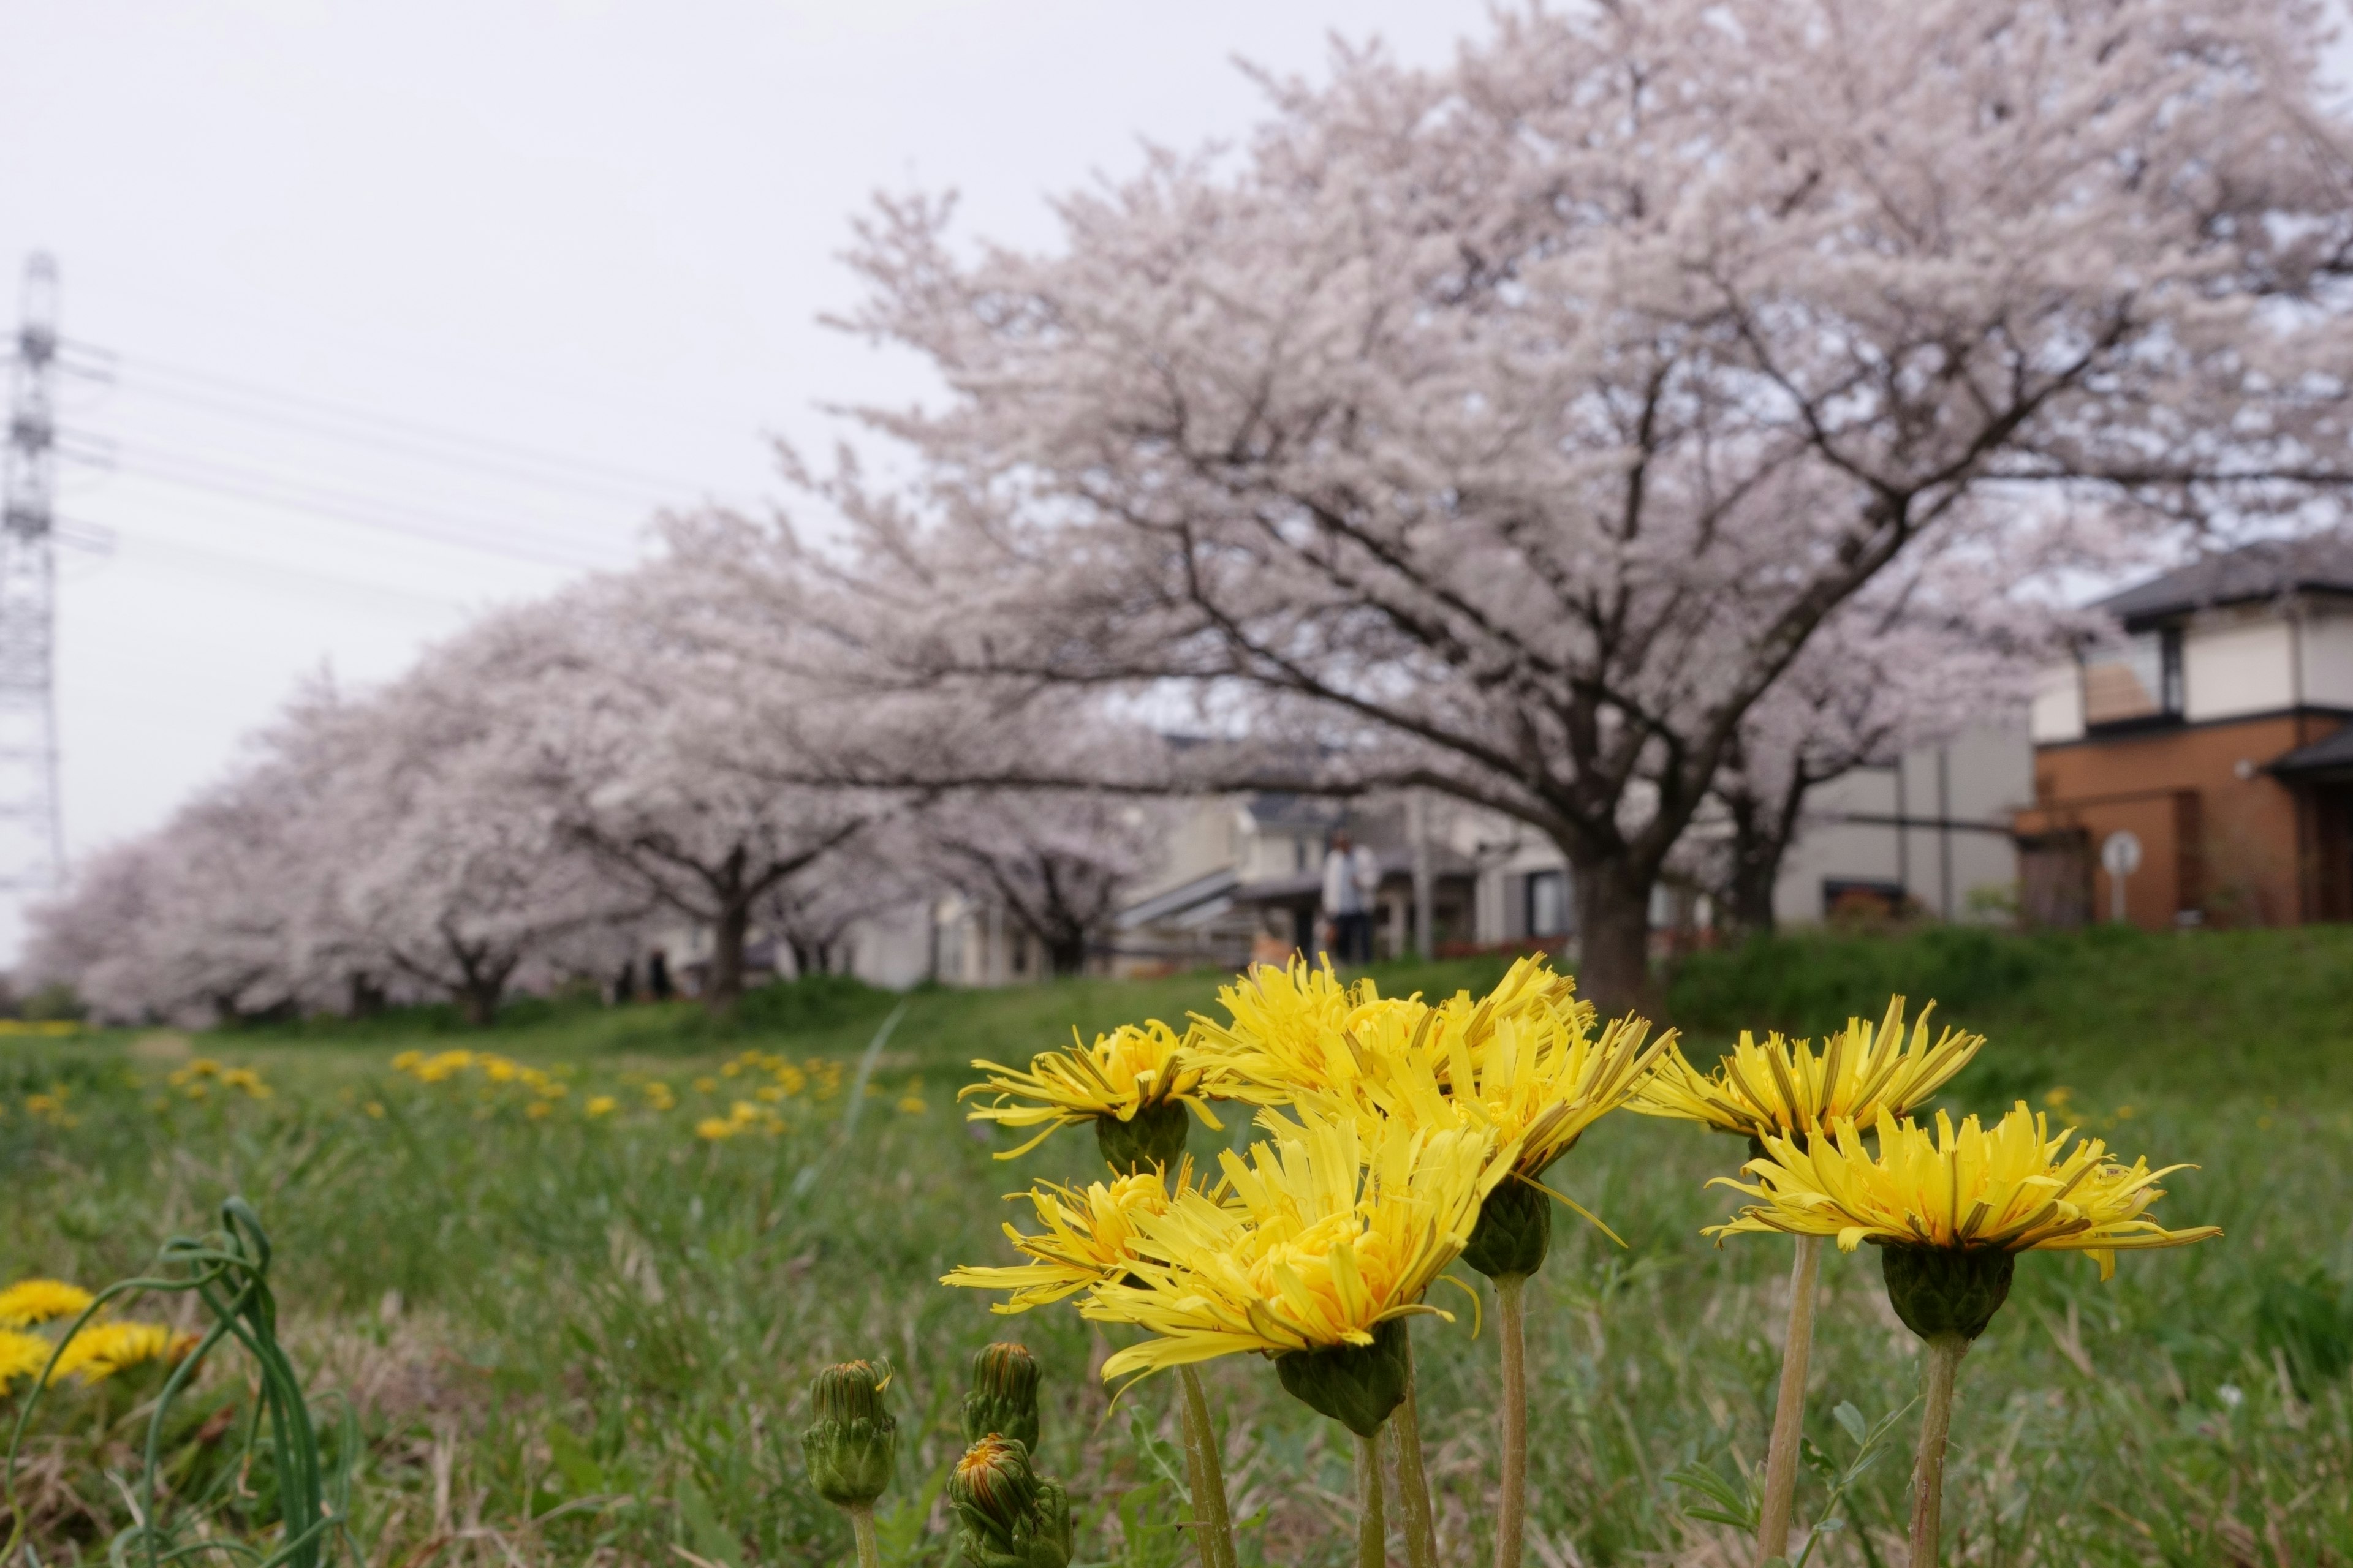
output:
[{"label": "overcast white sky above the row of cherry trees", "polygon": [[[1259,115],[1233,59],[1442,61],[1473,0],[33,0],[0,47],[0,320],[47,249],[68,465],[68,856],[134,835],[308,672],[774,496],[765,433],[922,381],[816,327],[875,188],[1047,195]],[[0,950],[14,919],[0,910]],[[0,952],[5,957],[5,952]]]}]

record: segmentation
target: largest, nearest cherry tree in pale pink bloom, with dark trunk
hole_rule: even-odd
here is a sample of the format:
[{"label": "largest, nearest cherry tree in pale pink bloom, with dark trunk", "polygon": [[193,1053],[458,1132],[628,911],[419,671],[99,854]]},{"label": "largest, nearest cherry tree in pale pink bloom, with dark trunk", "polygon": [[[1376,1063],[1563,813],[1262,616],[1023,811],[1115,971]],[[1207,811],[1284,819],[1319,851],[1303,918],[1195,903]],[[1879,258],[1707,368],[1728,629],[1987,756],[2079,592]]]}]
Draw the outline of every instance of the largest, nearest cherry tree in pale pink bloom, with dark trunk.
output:
[{"label": "largest, nearest cherry tree in pale pink bloom, with dark trunk", "polygon": [[2346,461],[2344,132],[2308,5],[1652,0],[1268,80],[1238,150],[859,228],[845,581],[911,684],[1179,686],[1548,835],[1586,987],[1854,595],[2064,494],[2306,520]]}]

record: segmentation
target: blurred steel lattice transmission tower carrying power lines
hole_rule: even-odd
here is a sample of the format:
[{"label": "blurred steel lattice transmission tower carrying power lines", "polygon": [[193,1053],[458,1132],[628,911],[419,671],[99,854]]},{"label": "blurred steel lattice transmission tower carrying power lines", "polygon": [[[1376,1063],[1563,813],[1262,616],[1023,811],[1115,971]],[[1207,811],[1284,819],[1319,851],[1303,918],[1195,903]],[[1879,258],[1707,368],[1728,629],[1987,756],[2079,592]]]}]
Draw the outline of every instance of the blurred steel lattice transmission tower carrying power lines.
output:
[{"label": "blurred steel lattice transmission tower carrying power lines", "polygon": [[47,893],[66,872],[56,820],[56,263],[24,263],[0,510],[0,891]]}]

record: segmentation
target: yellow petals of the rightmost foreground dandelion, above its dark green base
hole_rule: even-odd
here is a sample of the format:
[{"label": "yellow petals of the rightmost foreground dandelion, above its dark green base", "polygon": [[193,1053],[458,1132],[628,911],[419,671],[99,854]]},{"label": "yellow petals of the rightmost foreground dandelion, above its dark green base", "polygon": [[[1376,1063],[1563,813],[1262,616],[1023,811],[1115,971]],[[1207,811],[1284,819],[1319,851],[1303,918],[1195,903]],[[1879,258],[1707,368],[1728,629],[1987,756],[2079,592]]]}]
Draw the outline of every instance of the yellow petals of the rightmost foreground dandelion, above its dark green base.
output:
[{"label": "yellow petals of the rightmost foreground dandelion, above its dark green base", "polygon": [[1937,1112],[1934,1135],[1887,1112],[1875,1131],[1878,1159],[1847,1119],[1809,1145],[1765,1138],[1765,1159],[1744,1166],[1755,1185],[1718,1178],[1758,1201],[1706,1234],[1835,1237],[1845,1253],[1864,1241],[1965,1253],[2092,1253],[2101,1279],[2115,1274],[2120,1251],[2221,1234],[2214,1225],[2165,1229],[2144,1218],[2165,1197],[2158,1180],[2188,1166],[2151,1171],[2146,1159],[2122,1166],[2099,1138],[2066,1150],[2075,1128],[2052,1138],[2045,1117],[2024,1100],[1991,1131],[1977,1117],[1955,1128],[1944,1112]]}]

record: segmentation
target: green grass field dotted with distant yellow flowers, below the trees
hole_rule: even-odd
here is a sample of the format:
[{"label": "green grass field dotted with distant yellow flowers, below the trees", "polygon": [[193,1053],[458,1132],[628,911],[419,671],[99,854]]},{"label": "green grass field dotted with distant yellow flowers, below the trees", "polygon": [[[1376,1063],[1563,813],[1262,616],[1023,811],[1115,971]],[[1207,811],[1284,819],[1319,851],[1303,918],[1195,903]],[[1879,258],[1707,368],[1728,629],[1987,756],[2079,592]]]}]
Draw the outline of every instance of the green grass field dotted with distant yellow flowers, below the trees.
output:
[{"label": "green grass field dotted with distant yellow flowers, below the trees", "polygon": [[[1497,969],[1381,983],[1478,987]],[[965,1361],[991,1338],[1026,1340],[1047,1368],[1042,1458],[1080,1502],[1080,1556],[1191,1561],[1169,1528],[1169,1392],[1111,1408],[1089,1375],[1108,1340],[1075,1314],[993,1319],[934,1281],[1009,1260],[1002,1192],[1092,1164],[1078,1135],[991,1161],[1009,1140],[958,1119],[965,1060],[1176,1018],[1214,983],[918,992],[866,1086],[901,999],[852,985],[760,994],[734,1030],[687,1006],[534,1004],[485,1034],[409,1016],[0,1041],[0,1284],[139,1272],[224,1194],[252,1199],[278,1241],[287,1345],[358,1410],[341,1458],[369,1563],[840,1561],[847,1533],[800,1483],[798,1429],[809,1373],[852,1354],[899,1371],[887,1552],[948,1561],[936,1486]],[[2106,1286],[2082,1260],[2021,1262],[1962,1368],[1951,1561],[2353,1563],[2353,931],[1784,940],[1692,961],[1666,1011],[1711,1058],[1744,1023],[1819,1032],[1889,990],[1991,1037],[1948,1103],[2026,1095],[2127,1157],[2198,1161],[2162,1213],[2228,1232],[2127,1255]],[[433,1065],[464,1048],[508,1065]],[[256,1070],[268,1098],[188,1079],[198,1056]],[[727,1135],[699,1135],[706,1121]],[[1195,1128],[1195,1154],[1209,1147]],[[1704,1182],[1739,1159],[1729,1140],[1612,1117],[1555,1166],[1628,1246],[1562,1227],[1532,1288],[1534,1563],[1746,1563],[1664,1479],[1762,1458],[1788,1248],[1697,1234],[1729,1208]],[[1906,1403],[1915,1342],[1868,1251],[1833,1253],[1824,1279],[1812,1436],[1838,1460],[1833,1406]],[[1485,1561],[1494,1335],[1473,1338],[1471,1314],[1424,1321],[1417,1354],[1445,1554]],[[224,1441],[228,1368],[172,1432],[174,1483]],[[1261,1361],[1207,1380],[1245,1561],[1346,1561],[1339,1429]],[[113,1476],[136,1474],[151,1389],[134,1373],[68,1385],[38,1415],[21,1488],[40,1563],[106,1561],[127,1521]],[[1871,1472],[1857,1528],[1817,1563],[1901,1563],[1904,1469]],[[233,1493],[219,1528],[266,1528],[266,1486]],[[1800,1516],[1817,1500],[1800,1493]]]}]

